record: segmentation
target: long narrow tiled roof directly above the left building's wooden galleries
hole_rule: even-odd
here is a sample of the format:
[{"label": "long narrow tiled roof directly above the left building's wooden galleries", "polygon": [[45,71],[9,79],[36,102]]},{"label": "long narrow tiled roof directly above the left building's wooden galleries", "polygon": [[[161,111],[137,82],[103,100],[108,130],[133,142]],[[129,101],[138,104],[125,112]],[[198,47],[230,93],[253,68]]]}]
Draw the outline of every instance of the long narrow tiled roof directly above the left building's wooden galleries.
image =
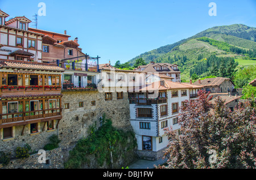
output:
[{"label": "long narrow tiled roof directly above the left building's wooden galleries", "polygon": [[46,65],[46,63],[35,63],[35,62],[20,62],[15,60],[0,61],[0,68],[22,68],[26,70],[48,70],[48,71],[65,71],[64,68],[58,67],[56,65]]}]

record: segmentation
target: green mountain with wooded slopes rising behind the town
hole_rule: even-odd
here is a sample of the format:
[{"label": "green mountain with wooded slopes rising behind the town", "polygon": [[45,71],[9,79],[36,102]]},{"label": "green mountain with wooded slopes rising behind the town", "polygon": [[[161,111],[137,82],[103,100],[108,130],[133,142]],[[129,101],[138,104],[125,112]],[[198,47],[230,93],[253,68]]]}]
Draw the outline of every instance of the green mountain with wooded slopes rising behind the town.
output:
[{"label": "green mountain with wooded slopes rising behind the town", "polygon": [[243,24],[209,28],[174,44],[138,55],[129,61],[130,65],[134,65],[138,58],[143,58],[146,63],[176,63],[180,66],[181,78],[185,80],[193,73],[209,75],[211,66],[220,66],[222,61],[228,63],[230,58],[256,60],[256,28]]}]

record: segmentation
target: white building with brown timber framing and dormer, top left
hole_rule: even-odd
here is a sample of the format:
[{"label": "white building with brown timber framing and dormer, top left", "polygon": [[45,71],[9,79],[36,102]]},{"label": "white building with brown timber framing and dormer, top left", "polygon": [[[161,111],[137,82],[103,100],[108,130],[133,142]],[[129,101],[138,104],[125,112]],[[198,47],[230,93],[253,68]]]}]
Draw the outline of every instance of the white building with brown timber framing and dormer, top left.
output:
[{"label": "white building with brown timber framing and dormer, top left", "polygon": [[0,10],[0,59],[42,62],[44,35],[28,31],[31,20],[25,16],[6,22],[8,16]]}]

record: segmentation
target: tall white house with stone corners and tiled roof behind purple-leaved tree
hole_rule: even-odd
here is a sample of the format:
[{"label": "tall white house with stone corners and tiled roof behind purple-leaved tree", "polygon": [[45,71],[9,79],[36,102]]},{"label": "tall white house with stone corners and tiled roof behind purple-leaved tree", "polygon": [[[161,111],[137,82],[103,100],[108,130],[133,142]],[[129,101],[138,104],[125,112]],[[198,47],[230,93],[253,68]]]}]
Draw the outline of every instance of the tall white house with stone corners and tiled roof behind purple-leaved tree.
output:
[{"label": "tall white house with stone corners and tiled roof behind purple-leaved tree", "polygon": [[164,128],[172,127],[179,133],[177,118],[183,101],[191,98],[191,90],[199,89],[199,85],[161,80],[144,85],[139,92],[129,92],[130,121],[141,158],[163,157],[163,149],[168,145]]}]

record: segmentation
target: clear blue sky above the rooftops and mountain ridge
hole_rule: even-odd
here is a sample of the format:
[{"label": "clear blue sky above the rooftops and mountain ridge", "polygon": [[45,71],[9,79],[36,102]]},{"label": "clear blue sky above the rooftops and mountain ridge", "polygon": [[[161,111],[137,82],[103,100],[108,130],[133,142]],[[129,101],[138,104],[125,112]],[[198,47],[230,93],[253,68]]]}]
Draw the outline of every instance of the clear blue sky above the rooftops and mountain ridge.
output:
[{"label": "clear blue sky above the rooftops and mountain ridge", "polygon": [[[0,0],[0,8],[9,18],[32,20],[40,2],[46,16],[38,16],[38,29],[67,30],[71,39],[79,38],[82,52],[112,65],[217,25],[256,27],[256,0]],[[216,3],[216,16],[208,13],[210,2]]]}]

